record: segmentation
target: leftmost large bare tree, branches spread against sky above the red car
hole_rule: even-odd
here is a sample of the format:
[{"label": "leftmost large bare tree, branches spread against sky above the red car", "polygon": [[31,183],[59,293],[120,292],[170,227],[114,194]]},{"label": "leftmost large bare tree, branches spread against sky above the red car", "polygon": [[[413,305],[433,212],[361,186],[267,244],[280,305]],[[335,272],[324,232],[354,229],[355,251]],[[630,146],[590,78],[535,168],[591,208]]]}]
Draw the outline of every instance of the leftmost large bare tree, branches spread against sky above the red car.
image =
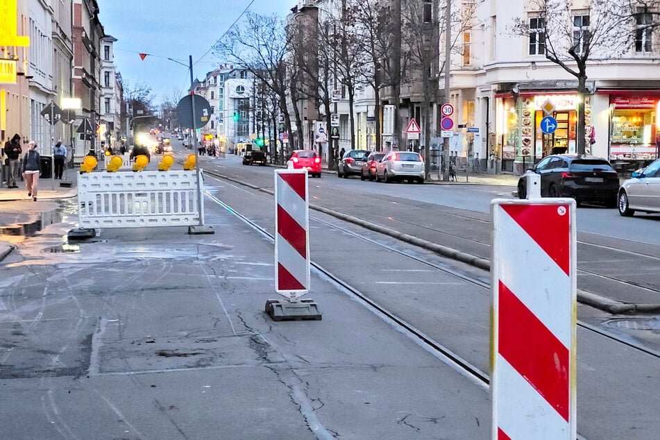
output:
[{"label": "leftmost large bare tree, branches spread against sky above the red car", "polygon": [[287,95],[295,78],[287,67],[291,36],[285,21],[277,15],[248,12],[245,20],[232,27],[214,49],[228,63],[250,71],[278,96],[279,111],[285,118],[285,130],[292,139]]}]

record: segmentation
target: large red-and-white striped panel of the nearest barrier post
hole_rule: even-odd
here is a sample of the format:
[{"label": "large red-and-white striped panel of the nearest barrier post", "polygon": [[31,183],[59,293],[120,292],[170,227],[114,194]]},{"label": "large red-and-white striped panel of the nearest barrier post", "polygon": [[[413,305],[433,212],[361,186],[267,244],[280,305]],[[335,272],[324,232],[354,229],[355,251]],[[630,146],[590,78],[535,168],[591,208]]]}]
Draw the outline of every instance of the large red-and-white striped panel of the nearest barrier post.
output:
[{"label": "large red-and-white striped panel of the nearest barrier post", "polygon": [[493,439],[576,437],[575,201],[495,200]]}]

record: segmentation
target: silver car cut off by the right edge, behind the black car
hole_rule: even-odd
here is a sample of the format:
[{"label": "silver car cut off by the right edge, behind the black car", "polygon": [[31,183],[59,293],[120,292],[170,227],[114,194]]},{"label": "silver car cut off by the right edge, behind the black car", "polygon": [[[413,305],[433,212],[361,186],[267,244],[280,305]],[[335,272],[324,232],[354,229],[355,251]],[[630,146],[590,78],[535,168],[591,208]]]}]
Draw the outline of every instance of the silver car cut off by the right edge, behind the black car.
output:
[{"label": "silver car cut off by the right edge, behind the black car", "polygon": [[635,171],[621,185],[617,205],[624,217],[632,216],[635,211],[660,212],[660,159]]}]

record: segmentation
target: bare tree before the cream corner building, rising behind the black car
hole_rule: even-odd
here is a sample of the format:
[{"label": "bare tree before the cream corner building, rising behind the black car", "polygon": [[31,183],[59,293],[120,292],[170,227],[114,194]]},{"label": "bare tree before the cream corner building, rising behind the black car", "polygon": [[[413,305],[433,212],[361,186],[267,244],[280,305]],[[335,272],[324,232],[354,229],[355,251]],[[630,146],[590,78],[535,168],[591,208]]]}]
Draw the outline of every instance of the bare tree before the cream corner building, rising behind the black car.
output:
[{"label": "bare tree before the cream corner building, rising behind the black car", "polygon": [[[585,153],[584,99],[587,65],[592,58],[616,58],[629,51],[628,0],[532,0],[531,19],[514,20],[514,33],[529,36],[545,58],[577,78],[577,153]],[[579,11],[579,12],[575,12]],[[530,21],[531,20],[531,21]],[[533,26],[530,26],[530,23]]]}]

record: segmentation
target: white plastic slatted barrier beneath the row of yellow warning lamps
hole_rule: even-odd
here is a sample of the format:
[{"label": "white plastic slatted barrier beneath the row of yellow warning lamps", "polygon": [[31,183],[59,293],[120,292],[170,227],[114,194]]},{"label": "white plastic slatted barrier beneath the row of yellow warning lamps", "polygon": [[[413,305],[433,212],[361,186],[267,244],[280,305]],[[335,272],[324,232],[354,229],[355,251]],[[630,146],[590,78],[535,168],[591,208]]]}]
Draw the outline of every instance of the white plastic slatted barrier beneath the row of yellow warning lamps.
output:
[{"label": "white plastic slatted barrier beneath the row of yellow warning lamps", "polygon": [[[202,174],[199,174],[201,194]],[[105,171],[78,175],[79,228],[194,226],[195,171]]]}]

